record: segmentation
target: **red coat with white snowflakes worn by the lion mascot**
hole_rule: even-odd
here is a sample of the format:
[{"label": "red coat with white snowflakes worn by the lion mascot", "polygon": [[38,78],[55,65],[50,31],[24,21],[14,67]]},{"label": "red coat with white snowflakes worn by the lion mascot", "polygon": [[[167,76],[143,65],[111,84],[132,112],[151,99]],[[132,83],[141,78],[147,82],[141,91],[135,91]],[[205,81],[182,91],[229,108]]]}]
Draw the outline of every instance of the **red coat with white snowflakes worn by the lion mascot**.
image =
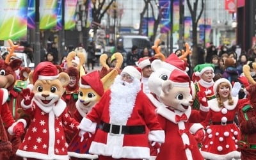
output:
[{"label": "red coat with white snowflakes worn by the lion mascot", "polygon": [[30,107],[26,112],[31,113],[33,120],[16,154],[36,159],[68,159],[63,125],[78,131],[79,123],[68,114],[66,103],[60,99],[54,106],[45,107],[33,99],[30,106],[22,101],[22,107]]}]

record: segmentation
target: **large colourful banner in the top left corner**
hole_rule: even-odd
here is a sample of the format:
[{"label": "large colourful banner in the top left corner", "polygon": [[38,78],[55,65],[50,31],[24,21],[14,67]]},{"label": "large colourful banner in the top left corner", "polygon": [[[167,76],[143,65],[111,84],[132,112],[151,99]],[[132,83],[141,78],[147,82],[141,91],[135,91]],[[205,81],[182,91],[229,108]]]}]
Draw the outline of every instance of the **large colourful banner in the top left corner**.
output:
[{"label": "large colourful banner in the top left corner", "polygon": [[0,40],[26,40],[28,0],[1,1]]}]

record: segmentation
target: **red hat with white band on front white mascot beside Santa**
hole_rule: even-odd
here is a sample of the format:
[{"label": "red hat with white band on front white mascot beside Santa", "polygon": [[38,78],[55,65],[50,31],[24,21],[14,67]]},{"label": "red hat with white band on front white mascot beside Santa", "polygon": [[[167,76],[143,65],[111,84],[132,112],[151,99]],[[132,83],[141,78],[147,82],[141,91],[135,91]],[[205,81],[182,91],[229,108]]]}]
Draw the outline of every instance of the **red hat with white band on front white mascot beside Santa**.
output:
[{"label": "red hat with white band on front white mascot beside Santa", "polygon": [[173,86],[178,87],[189,87],[190,78],[186,72],[183,72],[178,69],[174,69],[170,74],[169,79],[173,82]]}]

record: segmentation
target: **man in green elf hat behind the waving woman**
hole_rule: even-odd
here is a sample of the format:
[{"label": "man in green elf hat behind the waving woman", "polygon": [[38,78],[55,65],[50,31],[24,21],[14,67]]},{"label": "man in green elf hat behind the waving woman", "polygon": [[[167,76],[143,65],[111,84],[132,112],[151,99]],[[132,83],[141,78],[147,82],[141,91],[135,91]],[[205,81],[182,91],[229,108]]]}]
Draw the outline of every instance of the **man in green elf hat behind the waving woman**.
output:
[{"label": "man in green elf hat behind the waving woman", "polygon": [[200,102],[197,97],[197,93],[202,91],[205,92],[207,95],[207,99],[211,100],[215,98],[213,93],[213,77],[214,77],[214,65],[212,64],[201,64],[196,65],[194,68],[195,76],[200,77],[200,80],[195,83],[195,92],[196,96],[193,102],[193,109],[200,108]]}]

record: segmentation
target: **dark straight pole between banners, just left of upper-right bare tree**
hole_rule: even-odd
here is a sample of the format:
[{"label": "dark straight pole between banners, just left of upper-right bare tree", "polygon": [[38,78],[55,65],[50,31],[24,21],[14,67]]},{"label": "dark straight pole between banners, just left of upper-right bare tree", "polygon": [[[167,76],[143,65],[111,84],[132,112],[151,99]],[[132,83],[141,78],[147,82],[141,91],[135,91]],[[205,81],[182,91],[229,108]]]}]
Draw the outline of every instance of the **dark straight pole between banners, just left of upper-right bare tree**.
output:
[{"label": "dark straight pole between banners, just left of upper-right bare tree", "polygon": [[179,49],[183,49],[183,36],[184,36],[184,4],[183,0],[179,0],[179,8],[180,8],[180,26],[179,26]]}]

